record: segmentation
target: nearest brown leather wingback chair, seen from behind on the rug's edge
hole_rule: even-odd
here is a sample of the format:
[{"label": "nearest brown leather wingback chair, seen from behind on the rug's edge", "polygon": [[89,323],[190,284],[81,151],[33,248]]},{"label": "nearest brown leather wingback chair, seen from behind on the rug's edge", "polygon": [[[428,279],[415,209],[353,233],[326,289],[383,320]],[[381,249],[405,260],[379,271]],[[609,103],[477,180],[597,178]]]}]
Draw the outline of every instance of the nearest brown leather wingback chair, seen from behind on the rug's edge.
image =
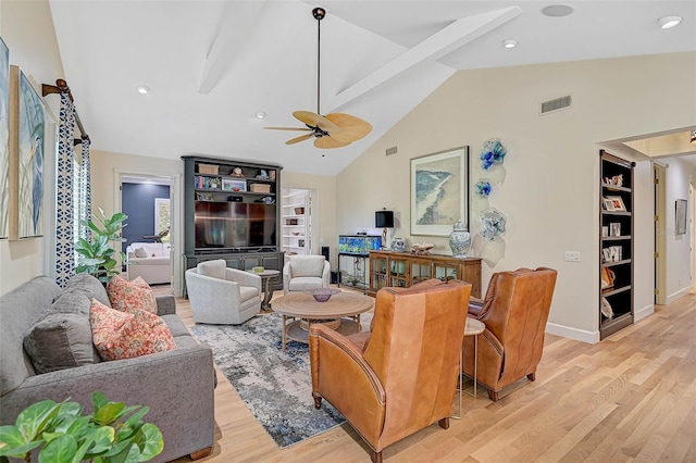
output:
[{"label": "nearest brown leather wingback chair, seen from behind on the rug's edge", "polygon": [[471,285],[430,279],[377,291],[372,330],[309,335],[312,396],[331,402],[371,449],[382,450],[438,422],[447,429],[457,388]]}]

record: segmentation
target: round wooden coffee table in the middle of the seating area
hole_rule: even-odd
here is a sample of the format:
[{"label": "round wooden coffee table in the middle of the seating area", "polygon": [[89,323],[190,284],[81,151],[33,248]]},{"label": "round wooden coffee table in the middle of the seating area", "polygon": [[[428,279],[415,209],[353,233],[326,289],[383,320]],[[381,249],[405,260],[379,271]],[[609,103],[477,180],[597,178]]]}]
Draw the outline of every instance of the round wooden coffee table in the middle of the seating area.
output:
[{"label": "round wooden coffee table in the middle of the seating area", "polygon": [[374,299],[358,292],[339,292],[326,302],[316,302],[301,291],[279,297],[273,301],[273,310],[283,315],[283,351],[287,339],[309,342],[312,323],[326,323],[344,335],[358,333],[360,314],[373,306]]}]

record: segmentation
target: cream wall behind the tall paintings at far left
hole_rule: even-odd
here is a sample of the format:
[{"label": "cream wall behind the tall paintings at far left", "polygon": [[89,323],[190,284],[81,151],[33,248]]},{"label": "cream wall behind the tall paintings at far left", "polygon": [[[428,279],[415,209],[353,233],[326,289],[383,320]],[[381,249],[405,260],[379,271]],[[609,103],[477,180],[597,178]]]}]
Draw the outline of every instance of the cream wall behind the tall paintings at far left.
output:
[{"label": "cream wall behind the tall paintings at far left", "polygon": [[[64,77],[48,2],[0,2],[0,36],[10,49],[10,64],[20,66],[39,97],[41,84],[54,85],[55,79]],[[51,166],[55,160],[54,121],[60,98],[53,95],[42,100],[47,109],[44,165]],[[52,178],[53,172],[50,167],[46,168],[45,216],[53,211]],[[50,233],[52,228],[47,226],[46,234]],[[46,241],[44,237],[21,241],[0,240],[0,295],[52,271],[47,266]]]}]

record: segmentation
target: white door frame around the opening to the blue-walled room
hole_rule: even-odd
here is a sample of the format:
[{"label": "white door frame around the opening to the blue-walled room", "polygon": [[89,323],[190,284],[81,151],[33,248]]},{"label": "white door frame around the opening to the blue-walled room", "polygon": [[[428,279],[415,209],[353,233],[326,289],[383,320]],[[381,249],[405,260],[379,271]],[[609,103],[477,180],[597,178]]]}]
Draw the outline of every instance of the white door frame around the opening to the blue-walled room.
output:
[{"label": "white door frame around the opening to the blue-walled room", "polygon": [[182,175],[181,174],[162,174],[158,172],[148,172],[148,171],[134,171],[134,170],[122,170],[114,168],[114,192],[113,192],[113,210],[115,212],[122,211],[122,202],[121,202],[121,184],[122,178],[124,176],[134,176],[134,177],[160,177],[160,178],[169,178],[171,180],[170,185],[170,218],[171,218],[171,251],[170,251],[170,262],[172,270],[172,292],[174,296],[183,296],[183,249],[184,249],[184,229],[181,220],[179,211],[183,211],[182,203],[182,195],[181,195],[181,183]]}]

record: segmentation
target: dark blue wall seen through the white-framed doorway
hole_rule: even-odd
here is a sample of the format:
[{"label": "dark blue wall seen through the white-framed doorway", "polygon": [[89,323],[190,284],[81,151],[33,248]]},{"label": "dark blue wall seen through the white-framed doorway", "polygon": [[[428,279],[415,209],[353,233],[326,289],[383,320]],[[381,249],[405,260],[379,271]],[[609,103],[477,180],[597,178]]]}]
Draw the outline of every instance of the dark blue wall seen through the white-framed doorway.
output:
[{"label": "dark blue wall seen through the white-framed doorway", "polygon": [[132,242],[152,242],[142,236],[154,235],[154,199],[169,197],[169,185],[123,184],[121,209],[128,216],[123,229],[124,252]]}]

